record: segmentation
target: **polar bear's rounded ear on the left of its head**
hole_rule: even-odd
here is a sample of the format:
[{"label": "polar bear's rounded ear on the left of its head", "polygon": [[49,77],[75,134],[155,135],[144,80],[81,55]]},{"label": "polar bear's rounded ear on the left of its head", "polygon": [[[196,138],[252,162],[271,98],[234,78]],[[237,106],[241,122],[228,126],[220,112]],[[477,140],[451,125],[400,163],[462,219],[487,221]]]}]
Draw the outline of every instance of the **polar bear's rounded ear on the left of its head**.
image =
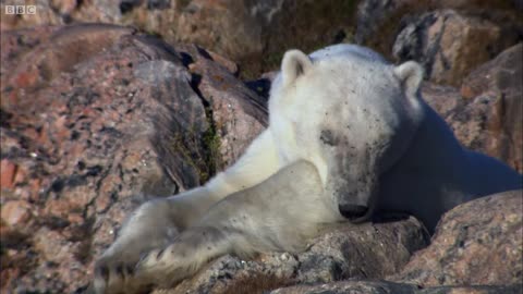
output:
[{"label": "polar bear's rounded ear on the left of its head", "polygon": [[313,66],[311,59],[300,50],[289,50],[281,62],[283,86],[289,86]]}]

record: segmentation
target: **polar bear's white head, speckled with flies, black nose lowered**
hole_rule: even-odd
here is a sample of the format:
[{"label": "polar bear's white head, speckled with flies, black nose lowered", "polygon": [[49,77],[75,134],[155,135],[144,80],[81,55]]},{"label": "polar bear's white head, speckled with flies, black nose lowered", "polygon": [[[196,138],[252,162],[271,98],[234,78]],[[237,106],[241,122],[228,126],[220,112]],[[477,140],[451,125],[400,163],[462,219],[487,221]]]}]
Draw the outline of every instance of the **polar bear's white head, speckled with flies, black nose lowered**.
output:
[{"label": "polar bear's white head, speckled with flies, black nose lowered", "polygon": [[269,100],[280,159],[313,162],[332,208],[354,222],[367,219],[379,175],[402,157],[423,119],[422,79],[417,63],[394,66],[354,45],[288,51]]}]

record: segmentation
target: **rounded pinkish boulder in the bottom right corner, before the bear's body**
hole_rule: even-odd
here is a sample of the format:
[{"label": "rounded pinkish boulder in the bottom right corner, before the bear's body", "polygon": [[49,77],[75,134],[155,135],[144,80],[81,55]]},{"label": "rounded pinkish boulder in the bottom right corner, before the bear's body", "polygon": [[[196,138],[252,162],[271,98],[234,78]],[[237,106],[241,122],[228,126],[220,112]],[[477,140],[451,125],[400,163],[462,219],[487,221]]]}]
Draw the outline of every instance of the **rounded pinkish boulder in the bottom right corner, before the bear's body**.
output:
[{"label": "rounded pinkish boulder in the bottom right corner, before the bear's body", "polygon": [[447,212],[429,247],[387,279],[437,285],[510,285],[523,279],[523,191],[462,204]]}]

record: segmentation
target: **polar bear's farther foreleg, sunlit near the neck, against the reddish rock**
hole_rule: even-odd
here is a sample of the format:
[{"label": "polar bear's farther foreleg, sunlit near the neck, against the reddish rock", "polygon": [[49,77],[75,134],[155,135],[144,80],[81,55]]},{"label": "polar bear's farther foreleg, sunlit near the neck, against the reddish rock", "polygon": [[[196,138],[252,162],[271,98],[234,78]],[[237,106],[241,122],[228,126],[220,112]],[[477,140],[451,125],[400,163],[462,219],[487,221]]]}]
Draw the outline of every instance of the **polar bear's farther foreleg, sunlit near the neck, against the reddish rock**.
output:
[{"label": "polar bear's farther foreleg, sunlit near the neck, against the reddish rock", "polygon": [[122,225],[115,242],[96,262],[96,293],[120,293],[131,283],[127,269],[134,269],[144,254],[171,244],[180,232],[198,222],[209,207],[230,194],[263,182],[279,167],[276,145],[267,130],[232,167],[206,185],[138,207]]}]

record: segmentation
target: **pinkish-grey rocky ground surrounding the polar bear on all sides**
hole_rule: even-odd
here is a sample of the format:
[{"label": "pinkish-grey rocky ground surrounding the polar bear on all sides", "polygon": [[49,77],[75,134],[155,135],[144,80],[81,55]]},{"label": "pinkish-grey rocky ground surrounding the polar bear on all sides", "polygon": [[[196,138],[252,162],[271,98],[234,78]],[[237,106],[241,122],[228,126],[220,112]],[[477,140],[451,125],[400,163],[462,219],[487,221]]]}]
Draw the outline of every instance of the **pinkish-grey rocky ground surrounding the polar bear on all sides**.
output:
[{"label": "pinkish-grey rocky ground surrounding the polar bear on all sides", "polygon": [[[102,15],[90,2],[73,2],[53,1],[49,5],[59,9],[40,14],[39,21],[2,15],[2,293],[83,293],[94,258],[141,201],[197,186],[233,162],[267,125],[273,75],[259,71],[276,69],[269,66],[282,49],[276,44],[301,45],[299,35],[287,36],[287,44],[278,41],[285,35],[275,37],[275,32],[295,29],[285,15],[296,9],[305,17],[306,5],[313,5],[267,1],[256,17],[238,19],[253,24],[236,24],[247,33],[267,34],[260,44],[273,44],[268,51],[238,56],[248,50],[238,47],[234,53],[228,46],[258,46],[255,35],[223,33],[230,27],[228,13],[247,11],[239,1],[230,7],[220,7],[220,1],[142,1],[123,14],[121,1],[114,15],[111,9]],[[180,10],[172,8],[174,2]],[[188,3],[182,9],[182,2]],[[275,10],[280,2],[281,10]],[[329,32],[329,38],[315,39],[323,46],[343,40],[373,46],[380,27],[399,25],[374,48],[388,48],[381,52],[396,61],[416,59],[430,69],[423,96],[460,142],[521,173],[519,2],[501,1],[489,13],[482,1],[441,1],[424,11],[413,2],[361,1],[338,8],[340,13],[354,11],[344,26],[318,16],[319,28],[311,32]],[[170,4],[161,9],[161,3]],[[337,10],[332,3],[324,5],[327,14]],[[106,24],[76,23],[89,15]],[[256,23],[257,17],[265,21]],[[124,19],[138,28],[120,26]],[[187,27],[196,23],[202,35],[153,36],[138,20],[162,32],[166,20]],[[345,37],[331,38],[340,27]],[[217,32],[223,38],[219,44],[212,39]],[[205,36],[210,37],[198,39]],[[316,45],[304,41],[301,49]],[[264,64],[244,65],[262,57]],[[242,73],[245,69],[251,72]],[[175,289],[155,293],[520,293],[522,193],[457,207],[431,241],[408,217],[346,224],[312,241],[305,253],[255,260],[224,256]]]}]

